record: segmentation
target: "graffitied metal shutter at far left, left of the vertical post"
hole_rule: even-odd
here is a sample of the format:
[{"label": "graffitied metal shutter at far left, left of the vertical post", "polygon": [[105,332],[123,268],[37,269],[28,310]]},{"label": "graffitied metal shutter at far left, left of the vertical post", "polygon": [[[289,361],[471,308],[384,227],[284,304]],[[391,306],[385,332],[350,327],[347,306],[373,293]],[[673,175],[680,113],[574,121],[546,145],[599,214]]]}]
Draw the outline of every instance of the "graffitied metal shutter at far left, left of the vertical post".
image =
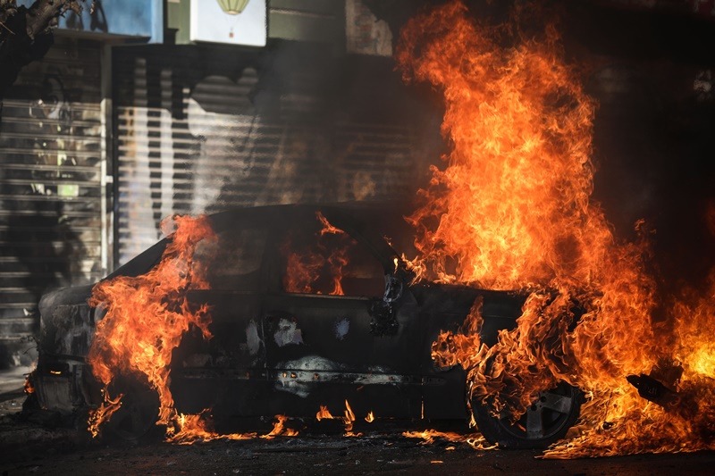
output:
[{"label": "graffitied metal shutter at far left, left of the vertical post", "polygon": [[29,337],[39,297],[100,278],[100,49],[55,38],[4,100],[0,130],[0,339]]}]

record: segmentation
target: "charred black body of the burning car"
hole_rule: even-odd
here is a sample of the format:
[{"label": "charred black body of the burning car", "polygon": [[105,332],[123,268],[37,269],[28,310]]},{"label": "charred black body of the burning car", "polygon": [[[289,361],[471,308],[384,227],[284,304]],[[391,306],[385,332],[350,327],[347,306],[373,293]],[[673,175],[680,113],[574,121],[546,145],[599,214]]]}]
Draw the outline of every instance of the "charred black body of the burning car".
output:
[{"label": "charred black body of the burning car", "polygon": [[[331,276],[312,276],[310,289],[295,289],[287,280],[289,255],[321,235],[324,225],[316,212],[349,237],[332,243],[350,248],[340,296],[327,294]],[[177,410],[212,408],[220,431],[235,430],[250,417],[315,417],[321,405],[336,414],[345,400],[358,418],[373,412],[378,418],[467,422],[466,373],[459,366],[436,368],[432,344],[442,330],[459,329],[477,298],[483,300],[481,338],[493,344],[499,330],[516,325],[525,297],[411,282],[377,226],[379,214],[349,206],[274,205],[211,215],[219,238],[206,258],[211,288],[192,290],[189,298],[210,306],[214,337],[205,340],[189,331],[174,351],[171,389]],[[399,215],[382,220],[386,228],[399,222]],[[149,271],[169,239],[105,279]],[[324,258],[341,253],[330,243],[319,251]],[[38,368],[31,375],[40,407],[80,418],[100,403],[85,363],[95,323],[103,316],[101,306],[87,304],[91,288],[61,289],[42,298]],[[544,392],[539,402],[516,423],[484,411],[475,415],[485,436],[502,446],[543,447],[563,437],[580,404],[568,386]],[[151,404],[145,413],[151,423]]]}]

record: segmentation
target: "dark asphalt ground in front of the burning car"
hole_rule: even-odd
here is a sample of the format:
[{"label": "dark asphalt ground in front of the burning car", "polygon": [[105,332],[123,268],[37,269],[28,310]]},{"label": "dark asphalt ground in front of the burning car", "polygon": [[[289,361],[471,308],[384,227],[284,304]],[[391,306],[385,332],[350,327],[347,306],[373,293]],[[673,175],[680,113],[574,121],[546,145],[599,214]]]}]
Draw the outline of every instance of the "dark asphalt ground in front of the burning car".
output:
[{"label": "dark asphalt ground in front of the burning car", "polygon": [[82,430],[24,421],[25,370],[0,374],[0,474],[715,474],[715,452],[546,460],[541,452],[475,450],[400,430],[360,437],[303,434],[176,445],[92,439]]}]

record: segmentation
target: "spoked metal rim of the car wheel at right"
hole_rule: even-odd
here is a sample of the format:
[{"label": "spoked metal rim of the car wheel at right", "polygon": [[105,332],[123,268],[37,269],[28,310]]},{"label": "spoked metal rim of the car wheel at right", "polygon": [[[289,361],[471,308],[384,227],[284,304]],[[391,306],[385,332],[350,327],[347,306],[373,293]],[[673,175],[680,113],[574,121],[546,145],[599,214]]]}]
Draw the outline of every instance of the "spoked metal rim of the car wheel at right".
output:
[{"label": "spoked metal rim of the car wheel at right", "polygon": [[551,438],[569,424],[576,398],[576,388],[562,382],[556,388],[539,392],[534,403],[517,422],[512,424],[509,419],[500,419],[499,424],[516,438]]}]

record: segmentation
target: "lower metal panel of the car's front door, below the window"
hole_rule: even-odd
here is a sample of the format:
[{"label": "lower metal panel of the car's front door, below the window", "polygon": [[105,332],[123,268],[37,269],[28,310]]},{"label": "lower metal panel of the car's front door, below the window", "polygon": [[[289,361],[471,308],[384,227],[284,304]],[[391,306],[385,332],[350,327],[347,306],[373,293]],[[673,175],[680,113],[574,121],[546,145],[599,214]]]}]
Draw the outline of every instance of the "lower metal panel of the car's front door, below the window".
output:
[{"label": "lower metal panel of the car's front door, below the window", "polygon": [[[283,411],[315,414],[320,405],[370,406],[398,418],[420,414],[419,355],[412,320],[392,336],[370,332],[373,300],[276,294],[265,303],[267,363]],[[400,318],[399,318],[400,319]],[[369,404],[369,405],[368,405]]]}]

